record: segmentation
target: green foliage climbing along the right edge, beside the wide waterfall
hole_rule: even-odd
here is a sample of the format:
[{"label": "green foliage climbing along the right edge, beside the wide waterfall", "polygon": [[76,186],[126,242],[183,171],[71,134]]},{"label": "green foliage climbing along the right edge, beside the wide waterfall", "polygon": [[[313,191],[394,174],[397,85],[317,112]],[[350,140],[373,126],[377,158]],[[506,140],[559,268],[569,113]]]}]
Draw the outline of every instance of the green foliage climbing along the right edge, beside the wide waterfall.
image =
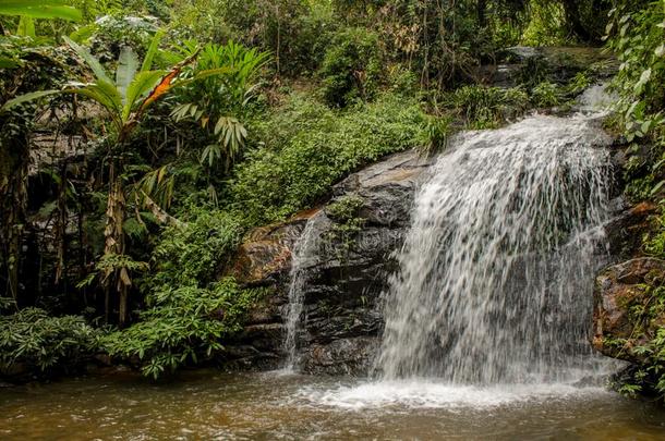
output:
[{"label": "green foliage climbing along the right edge, beside the wide waterfall", "polygon": [[[619,1],[607,25],[609,47],[621,65],[614,82],[619,94],[615,125],[629,143],[627,194],[633,200],[665,204],[665,2]],[[645,235],[646,255],[665,258],[665,216]],[[644,295],[627,307],[634,336],[615,342],[640,364],[624,378],[621,390],[655,393],[665,400],[665,280],[651,278]]]}]

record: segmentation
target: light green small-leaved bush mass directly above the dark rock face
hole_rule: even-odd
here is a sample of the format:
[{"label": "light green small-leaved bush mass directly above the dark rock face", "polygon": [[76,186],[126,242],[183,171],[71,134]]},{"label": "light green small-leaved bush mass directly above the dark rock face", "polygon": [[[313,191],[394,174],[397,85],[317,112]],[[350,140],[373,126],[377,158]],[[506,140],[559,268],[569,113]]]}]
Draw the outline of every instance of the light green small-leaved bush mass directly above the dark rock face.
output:
[{"label": "light green small-leaved bush mass directly above the dark rock face", "polygon": [[265,145],[238,167],[230,208],[249,225],[282,220],[358,168],[421,145],[424,119],[416,102],[397,95],[344,112],[297,95],[254,127]]}]

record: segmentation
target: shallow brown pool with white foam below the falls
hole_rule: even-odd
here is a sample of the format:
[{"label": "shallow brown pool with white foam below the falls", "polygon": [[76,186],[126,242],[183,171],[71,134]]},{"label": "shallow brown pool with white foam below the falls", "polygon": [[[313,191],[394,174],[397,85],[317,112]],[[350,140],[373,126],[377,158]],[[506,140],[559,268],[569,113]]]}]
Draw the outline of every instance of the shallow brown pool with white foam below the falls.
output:
[{"label": "shallow brown pool with white foam below the falls", "polygon": [[3,440],[663,440],[665,411],[597,387],[460,388],[279,372],[114,373],[0,389]]}]

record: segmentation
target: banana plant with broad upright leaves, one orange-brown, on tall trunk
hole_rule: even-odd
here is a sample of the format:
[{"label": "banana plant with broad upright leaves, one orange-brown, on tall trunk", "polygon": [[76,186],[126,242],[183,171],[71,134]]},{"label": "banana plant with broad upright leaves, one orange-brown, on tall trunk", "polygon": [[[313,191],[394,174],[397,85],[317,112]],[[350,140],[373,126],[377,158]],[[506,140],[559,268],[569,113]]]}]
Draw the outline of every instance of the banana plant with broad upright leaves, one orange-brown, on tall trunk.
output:
[{"label": "banana plant with broad upright leaves, one orange-brown, on tall trunk", "polygon": [[126,192],[121,176],[124,172],[123,157],[128,152],[129,136],[141,122],[147,108],[165,94],[168,94],[173,87],[202,77],[227,72],[226,69],[208,70],[201,72],[196,78],[180,79],[179,74],[185,65],[196,59],[197,50],[168,70],[152,70],[161,36],[162,33],[158,33],[155,36],[143,62],[138,61],[132,49],[123,48],[120,52],[114,75],[107,72],[88,50],[65,38],[65,42],[76,52],[78,58],[85,61],[85,64],[94,74],[94,79],[70,83],[62,90],[39,90],[15,97],[0,108],[0,112],[3,112],[17,105],[49,95],[75,94],[95,101],[108,113],[113,130],[109,139],[107,139],[108,157],[110,158],[108,161],[109,194],[104,232],[105,252],[101,261],[119,264],[117,266],[98,266],[98,269],[101,272],[106,286],[107,299],[105,303],[107,305],[110,286],[113,280],[116,282],[116,290],[119,294],[119,323],[121,327],[126,322],[128,293],[132,285],[130,268],[122,264],[128,259],[125,258],[123,232],[126,212]]}]

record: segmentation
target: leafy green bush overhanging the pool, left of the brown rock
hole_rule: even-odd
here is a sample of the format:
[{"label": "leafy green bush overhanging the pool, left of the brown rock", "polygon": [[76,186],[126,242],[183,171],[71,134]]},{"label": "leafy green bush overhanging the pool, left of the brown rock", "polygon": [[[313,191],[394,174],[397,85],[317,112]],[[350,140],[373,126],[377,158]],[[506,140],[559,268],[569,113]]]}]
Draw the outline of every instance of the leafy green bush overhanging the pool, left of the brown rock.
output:
[{"label": "leafy green bush overhanging the pool, left of the brown rock", "polygon": [[219,353],[220,340],[242,329],[261,294],[241,290],[233,279],[215,281],[238,246],[240,223],[217,210],[191,211],[190,222],[166,229],[155,247],[141,320],[102,340],[109,355],[141,367],[145,376],[158,378]]}]

